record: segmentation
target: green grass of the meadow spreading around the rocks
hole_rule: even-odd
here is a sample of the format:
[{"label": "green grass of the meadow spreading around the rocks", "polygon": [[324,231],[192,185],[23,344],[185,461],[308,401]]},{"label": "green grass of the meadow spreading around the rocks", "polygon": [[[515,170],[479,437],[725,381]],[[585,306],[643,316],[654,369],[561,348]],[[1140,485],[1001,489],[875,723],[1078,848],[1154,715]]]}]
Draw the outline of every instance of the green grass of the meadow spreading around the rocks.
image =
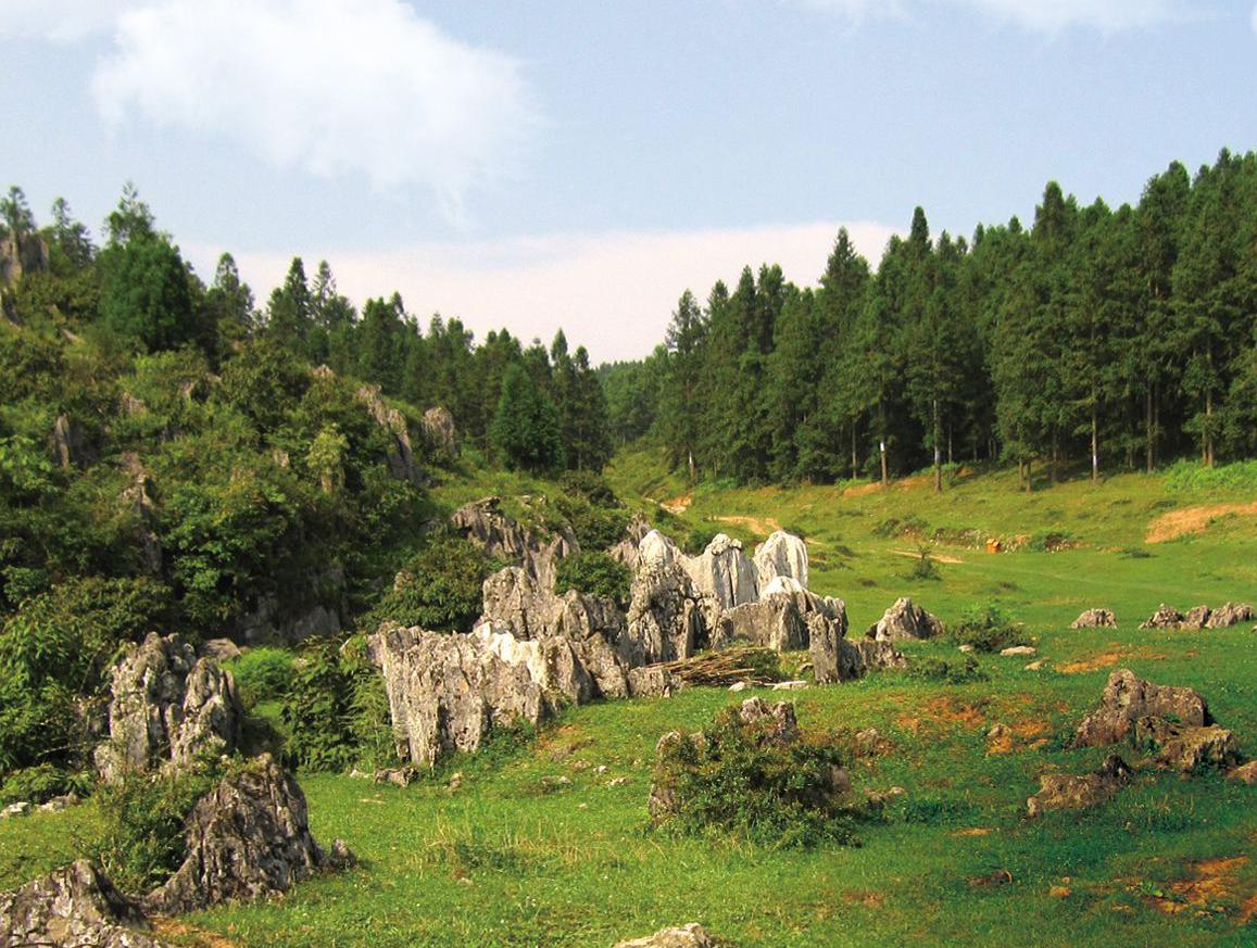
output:
[{"label": "green grass of the meadow spreading around the rocks", "polygon": [[[444,486],[445,500],[498,490],[478,477]],[[671,492],[675,478],[640,455],[620,458],[612,477],[644,507],[646,496],[680,493]],[[509,481],[499,483],[524,486]],[[1102,758],[1100,750],[1065,747],[1116,667],[1198,688],[1257,755],[1257,633],[1136,628],[1163,599],[1184,608],[1257,598],[1251,519],[1168,544],[1143,541],[1148,522],[1166,510],[1252,497],[1243,486],[1172,486],[1160,475],[1065,483],[1026,497],[1006,472],[962,478],[941,497],[928,485],[860,496],[832,487],[700,490],[679,521],[685,529],[716,516],[774,517],[801,529],[812,585],[847,600],[852,634],[897,595],[919,598],[948,622],[994,600],[1027,624],[1050,664],[1031,672],[1024,658],[979,655],[980,682],[882,673],[791,694],[804,726],[876,727],[889,742],[859,768],[857,786],[897,785],[908,794],[884,822],[861,827],[859,848],[774,851],[650,834],[646,794],[659,736],[699,728],[734,699],[723,689],[693,689],[568,711],[535,738],[499,741],[406,790],[302,775],[316,835],[344,838],[362,865],[279,902],[190,922],[240,945],[610,945],[691,920],[739,948],[1252,945],[1257,922],[1238,919],[1257,894],[1257,791],[1214,776],[1140,771],[1109,805],[1024,816],[1042,772],[1081,772]],[[997,555],[928,540],[943,578],[914,584],[903,579],[911,560],[892,551],[915,552],[918,541],[879,535],[887,520],[908,517],[926,524],[930,536],[939,527],[949,539],[965,530],[1061,532],[1080,545]],[[742,526],[729,532],[755,539]],[[1068,630],[1091,605],[1114,608],[1121,628]],[[945,642],[906,650],[918,660],[957,658]],[[1089,668],[1060,671],[1071,663]],[[1011,753],[987,752],[985,733],[997,722],[1017,732]],[[600,775],[600,766],[607,771]],[[463,781],[450,790],[454,771]],[[608,786],[617,777],[627,782]],[[0,824],[0,888],[70,859],[92,820],[89,804]],[[1241,855],[1251,861],[1199,905],[1173,917],[1158,907],[1170,904],[1158,893],[1185,898],[1172,885],[1192,879],[1195,864]],[[1001,869],[1011,883],[970,884]],[[1070,894],[1053,895],[1055,886]]]}]

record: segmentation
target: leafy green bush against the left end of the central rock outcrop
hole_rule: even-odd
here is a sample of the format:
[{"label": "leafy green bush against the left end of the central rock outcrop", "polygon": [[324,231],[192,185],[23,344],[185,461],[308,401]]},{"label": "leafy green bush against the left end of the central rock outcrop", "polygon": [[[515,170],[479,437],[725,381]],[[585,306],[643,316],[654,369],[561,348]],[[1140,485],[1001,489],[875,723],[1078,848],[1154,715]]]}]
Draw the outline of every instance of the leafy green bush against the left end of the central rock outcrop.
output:
[{"label": "leafy green bush against the left end of the central rock outcrop", "polygon": [[288,733],[284,757],[308,770],[375,767],[396,753],[383,678],[363,635],[307,648],[280,716]]}]

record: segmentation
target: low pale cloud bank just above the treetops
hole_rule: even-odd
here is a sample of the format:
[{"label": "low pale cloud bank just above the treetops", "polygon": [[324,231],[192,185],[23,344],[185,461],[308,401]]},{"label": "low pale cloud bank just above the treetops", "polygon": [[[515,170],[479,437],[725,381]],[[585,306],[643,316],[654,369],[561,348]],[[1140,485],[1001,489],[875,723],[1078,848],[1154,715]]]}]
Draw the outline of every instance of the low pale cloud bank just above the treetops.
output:
[{"label": "low pale cloud bank just above the treetops", "polygon": [[[832,222],[672,234],[592,234],[520,237],[484,244],[425,244],[378,254],[334,247],[303,251],[305,271],[332,264],[341,291],[361,303],[401,293],[422,325],[432,313],[456,316],[478,339],[507,326],[525,342],[549,343],[562,328],[595,362],[640,358],[662,342],[686,288],[706,299],[742,267],[778,262],[787,279],[815,285],[841,225]],[[895,229],[848,224],[856,247],[876,262]],[[217,249],[189,247],[200,272],[212,272]],[[283,281],[289,257],[235,254],[259,299]]]}]

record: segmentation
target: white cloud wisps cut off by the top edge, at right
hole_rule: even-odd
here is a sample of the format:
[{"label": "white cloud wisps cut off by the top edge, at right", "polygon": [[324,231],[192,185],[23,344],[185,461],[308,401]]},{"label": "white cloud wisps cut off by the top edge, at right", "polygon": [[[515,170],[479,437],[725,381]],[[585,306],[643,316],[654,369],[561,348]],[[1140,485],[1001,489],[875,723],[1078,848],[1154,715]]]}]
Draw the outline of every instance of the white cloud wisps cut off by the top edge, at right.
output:
[{"label": "white cloud wisps cut off by the top edge, at right", "polygon": [[911,8],[970,8],[1023,29],[1056,34],[1070,28],[1120,33],[1182,19],[1184,0],[793,0],[816,10],[840,14],[852,23],[874,16],[903,18]]}]

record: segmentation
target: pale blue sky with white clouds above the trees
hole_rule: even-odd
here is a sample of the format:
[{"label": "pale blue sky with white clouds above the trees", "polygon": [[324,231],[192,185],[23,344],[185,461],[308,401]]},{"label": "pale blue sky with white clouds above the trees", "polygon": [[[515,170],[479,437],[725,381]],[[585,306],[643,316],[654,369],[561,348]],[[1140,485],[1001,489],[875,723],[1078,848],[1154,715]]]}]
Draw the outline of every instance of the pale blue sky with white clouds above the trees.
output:
[{"label": "pale blue sky with white clouds above the trees", "polygon": [[640,358],[685,289],[815,285],[1257,147],[1254,0],[0,0],[0,186],[122,186],[206,280],[300,255],[478,338]]}]

